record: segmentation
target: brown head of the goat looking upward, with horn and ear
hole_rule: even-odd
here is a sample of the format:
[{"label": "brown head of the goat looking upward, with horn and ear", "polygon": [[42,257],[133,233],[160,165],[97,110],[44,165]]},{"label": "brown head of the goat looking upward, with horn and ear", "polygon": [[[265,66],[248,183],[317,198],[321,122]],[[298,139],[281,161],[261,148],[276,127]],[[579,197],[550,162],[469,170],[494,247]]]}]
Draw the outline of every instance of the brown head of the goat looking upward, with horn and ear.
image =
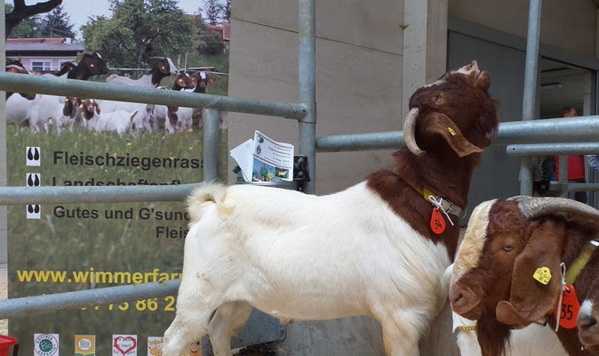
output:
[{"label": "brown head of the goat looking upward, with horn and ear", "polygon": [[447,145],[460,158],[482,152],[491,143],[487,136],[499,124],[490,85],[489,74],[472,61],[413,93],[403,123],[411,153],[422,156]]}]

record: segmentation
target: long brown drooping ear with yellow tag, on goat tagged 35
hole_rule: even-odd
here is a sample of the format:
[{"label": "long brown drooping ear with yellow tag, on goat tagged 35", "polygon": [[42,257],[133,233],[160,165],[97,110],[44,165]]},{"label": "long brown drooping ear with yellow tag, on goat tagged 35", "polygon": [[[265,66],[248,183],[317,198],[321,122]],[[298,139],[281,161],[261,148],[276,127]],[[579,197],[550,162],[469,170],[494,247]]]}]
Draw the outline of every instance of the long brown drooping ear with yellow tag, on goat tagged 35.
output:
[{"label": "long brown drooping ear with yellow tag, on goat tagged 35", "polygon": [[[543,318],[555,307],[562,287],[563,225],[548,219],[531,226],[531,238],[515,259],[509,302],[499,302],[495,311],[497,320],[507,325],[523,327]],[[544,267],[551,272],[547,285],[534,278]]]}]

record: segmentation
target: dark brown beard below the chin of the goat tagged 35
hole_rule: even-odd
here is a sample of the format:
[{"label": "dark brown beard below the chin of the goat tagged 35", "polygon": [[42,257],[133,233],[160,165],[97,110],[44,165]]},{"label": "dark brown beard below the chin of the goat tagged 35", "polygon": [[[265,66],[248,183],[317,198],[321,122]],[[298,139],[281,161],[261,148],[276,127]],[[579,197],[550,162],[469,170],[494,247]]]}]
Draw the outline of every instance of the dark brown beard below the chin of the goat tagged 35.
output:
[{"label": "dark brown beard below the chin of the goat tagged 35", "polygon": [[494,312],[483,311],[476,321],[476,335],[483,356],[504,356],[509,348],[512,327],[500,323]]}]

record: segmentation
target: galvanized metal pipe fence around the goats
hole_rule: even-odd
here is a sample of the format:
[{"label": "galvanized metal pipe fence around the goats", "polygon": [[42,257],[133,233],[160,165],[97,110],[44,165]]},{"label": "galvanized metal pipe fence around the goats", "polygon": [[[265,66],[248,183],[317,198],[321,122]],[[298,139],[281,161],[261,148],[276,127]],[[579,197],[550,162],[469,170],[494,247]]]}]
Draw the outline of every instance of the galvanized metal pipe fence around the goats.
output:
[{"label": "galvanized metal pipe fence around the goats", "polygon": [[[540,0],[531,0],[531,9],[533,10],[531,11],[532,23],[539,20]],[[0,18],[3,19],[0,21],[0,28],[4,28],[4,16]],[[535,26],[538,26],[538,23]],[[529,41],[536,41],[538,47],[538,29],[536,32],[529,33]],[[1,42],[0,53],[4,53],[4,47],[2,47],[4,41]],[[535,53],[530,48],[529,50],[531,55],[530,58],[527,57],[526,73],[536,75],[538,52]],[[403,133],[399,131],[315,137],[315,0],[299,0],[299,103],[252,101],[210,94],[171,92],[134,86],[108,85],[52,77],[22,76],[10,73],[0,73],[0,90],[203,108],[205,181],[218,178],[220,110],[299,120],[299,154],[307,156],[309,171],[312,176],[312,181],[303,187],[303,190],[307,193],[315,192],[316,151],[386,150],[403,147]],[[531,101],[531,98],[535,97],[536,79],[525,82],[525,92],[527,94],[524,95],[524,101]],[[533,99],[531,102],[534,102]],[[524,107],[526,112],[523,117],[529,119],[500,124],[497,138],[493,142],[495,145],[508,145],[508,155],[579,154],[592,153],[599,149],[599,143],[563,143],[595,141],[596,137],[599,137],[599,116],[535,121],[530,120],[534,114],[531,114],[530,110],[535,105],[525,105]],[[562,144],[555,145],[556,142]],[[537,144],[535,145],[535,143]],[[522,191],[530,194],[530,159],[523,160],[521,176]],[[152,187],[0,187],[0,205],[182,201],[198,184]],[[580,186],[570,184],[561,187],[564,190],[581,189]],[[583,188],[599,190],[599,185],[587,184]],[[0,319],[174,295],[179,283],[179,280],[172,280],[164,283],[104,287],[10,299],[0,302]]]}]

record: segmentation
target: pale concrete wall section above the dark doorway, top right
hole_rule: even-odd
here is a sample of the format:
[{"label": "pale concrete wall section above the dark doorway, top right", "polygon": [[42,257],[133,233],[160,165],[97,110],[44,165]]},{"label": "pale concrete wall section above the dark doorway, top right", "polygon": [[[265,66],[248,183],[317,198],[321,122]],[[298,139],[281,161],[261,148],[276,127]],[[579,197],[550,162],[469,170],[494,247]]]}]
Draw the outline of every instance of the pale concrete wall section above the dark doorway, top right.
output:
[{"label": "pale concrete wall section above the dark doorway, top right", "polygon": [[[449,0],[449,14],[526,37],[527,0]],[[592,0],[543,0],[540,42],[595,57],[596,10]]]}]

